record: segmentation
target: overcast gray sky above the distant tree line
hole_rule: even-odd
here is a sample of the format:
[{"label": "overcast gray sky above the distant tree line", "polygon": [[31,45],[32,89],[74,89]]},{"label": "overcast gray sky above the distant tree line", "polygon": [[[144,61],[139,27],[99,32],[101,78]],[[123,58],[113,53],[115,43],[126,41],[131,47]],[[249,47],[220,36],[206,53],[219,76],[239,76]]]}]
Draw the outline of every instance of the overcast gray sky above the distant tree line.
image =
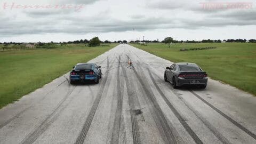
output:
[{"label": "overcast gray sky above the distant tree line", "polygon": [[255,0],[0,2],[0,42],[256,39]]}]

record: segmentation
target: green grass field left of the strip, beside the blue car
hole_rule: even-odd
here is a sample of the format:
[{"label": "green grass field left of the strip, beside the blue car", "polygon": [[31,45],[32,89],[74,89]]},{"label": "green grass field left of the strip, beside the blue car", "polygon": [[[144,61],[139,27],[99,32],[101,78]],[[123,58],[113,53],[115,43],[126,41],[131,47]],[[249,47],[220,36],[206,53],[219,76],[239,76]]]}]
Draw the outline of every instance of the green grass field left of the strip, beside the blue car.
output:
[{"label": "green grass field left of the strip, beside the blue car", "polygon": [[0,108],[67,73],[76,63],[87,62],[117,44],[108,45],[70,44],[57,49],[0,52]]}]

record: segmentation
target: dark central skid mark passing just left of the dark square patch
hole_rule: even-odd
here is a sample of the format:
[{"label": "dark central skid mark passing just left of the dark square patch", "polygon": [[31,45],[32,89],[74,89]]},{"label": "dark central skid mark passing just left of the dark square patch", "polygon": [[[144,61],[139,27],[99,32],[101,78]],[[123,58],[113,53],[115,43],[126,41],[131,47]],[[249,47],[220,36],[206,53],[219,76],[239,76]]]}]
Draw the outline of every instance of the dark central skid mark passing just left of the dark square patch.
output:
[{"label": "dark central skid mark passing just left of the dark square patch", "polygon": [[[141,143],[141,140],[140,140],[140,131],[139,131],[139,125],[138,125],[138,122],[137,122],[137,118],[135,116],[135,114],[133,113],[133,109],[134,109],[134,100],[133,100],[133,90],[134,89],[131,89],[130,86],[131,83],[127,77],[127,74],[126,74],[126,71],[124,69],[124,67],[122,66],[122,71],[123,71],[123,74],[124,74],[124,78],[125,78],[125,83],[126,83],[126,88],[127,88],[127,94],[128,94],[128,101],[129,101],[129,108],[130,108],[130,115],[131,115],[131,123],[132,123],[132,138],[133,138],[133,143],[134,144],[140,144]],[[136,95],[137,97],[137,95]]]}]

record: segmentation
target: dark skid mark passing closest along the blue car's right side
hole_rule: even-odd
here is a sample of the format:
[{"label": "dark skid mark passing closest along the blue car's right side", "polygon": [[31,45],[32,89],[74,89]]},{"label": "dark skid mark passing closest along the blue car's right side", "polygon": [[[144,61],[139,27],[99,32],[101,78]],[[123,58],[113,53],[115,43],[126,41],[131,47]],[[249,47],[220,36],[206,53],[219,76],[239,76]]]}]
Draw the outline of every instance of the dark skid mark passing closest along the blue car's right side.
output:
[{"label": "dark skid mark passing closest along the blue car's right side", "polygon": [[[109,58],[107,57],[107,69],[108,68],[109,68]],[[101,100],[101,97],[102,97],[102,93],[103,93],[103,91],[105,89],[105,86],[106,86],[107,79],[108,79],[108,72],[106,72],[105,79],[103,79],[103,81],[100,83],[100,90],[101,91],[98,91],[98,93],[96,95],[96,98],[95,98],[95,100],[93,102],[93,105],[92,105],[92,107],[90,109],[89,115],[87,116],[87,118],[85,120],[83,128],[82,128],[81,132],[79,133],[79,135],[78,135],[78,137],[76,139],[75,144],[82,144],[84,142],[84,140],[85,140],[86,134],[89,131],[89,128],[90,128],[92,120],[93,120],[93,117],[94,117],[95,112],[96,112],[96,110],[98,108],[98,105],[100,103],[100,100]]]}]

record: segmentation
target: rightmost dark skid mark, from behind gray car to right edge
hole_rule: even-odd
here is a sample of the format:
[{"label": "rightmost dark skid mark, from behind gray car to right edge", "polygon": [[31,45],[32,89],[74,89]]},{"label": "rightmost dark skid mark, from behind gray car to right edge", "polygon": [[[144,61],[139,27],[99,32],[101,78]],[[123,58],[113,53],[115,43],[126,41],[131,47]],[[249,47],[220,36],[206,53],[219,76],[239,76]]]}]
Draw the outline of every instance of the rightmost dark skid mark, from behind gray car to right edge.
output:
[{"label": "rightmost dark skid mark, from behind gray car to right edge", "polygon": [[248,135],[250,135],[253,139],[256,140],[256,135],[254,133],[252,133],[250,130],[246,129],[243,125],[239,124],[238,122],[236,122],[234,119],[232,119],[231,117],[229,117],[228,115],[226,115],[225,113],[223,113],[221,110],[219,110],[218,108],[214,107],[211,103],[207,102],[205,99],[203,99],[200,95],[196,94],[194,91],[189,90],[189,92],[191,92],[193,95],[195,95],[199,100],[203,101],[207,106],[211,107],[213,110],[217,111],[217,113],[219,113],[221,116],[225,117],[226,119],[228,119],[228,121],[230,121],[231,123],[233,123],[234,125],[236,125],[239,129],[241,129],[242,131],[244,131],[245,133],[247,133]]}]

